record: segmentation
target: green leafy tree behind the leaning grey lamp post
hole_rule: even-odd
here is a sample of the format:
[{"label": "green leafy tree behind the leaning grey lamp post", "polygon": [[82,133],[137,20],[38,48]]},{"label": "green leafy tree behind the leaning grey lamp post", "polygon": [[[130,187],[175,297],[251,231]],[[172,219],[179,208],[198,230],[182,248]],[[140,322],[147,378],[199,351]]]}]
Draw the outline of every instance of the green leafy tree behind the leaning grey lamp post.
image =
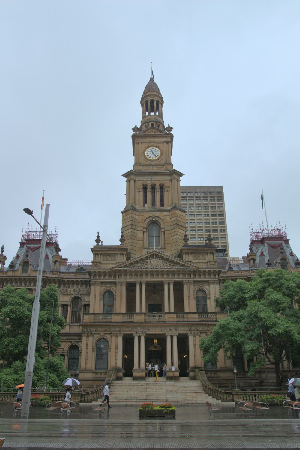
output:
[{"label": "green leafy tree behind the leaning grey lamp post", "polygon": [[[18,376],[17,384],[21,383],[24,379],[33,302],[34,297],[28,294],[26,288],[16,289],[8,286],[1,291],[0,360],[4,360],[6,363],[0,374],[2,390],[3,383],[5,383],[5,386],[7,385],[5,377],[7,376],[11,378],[14,375],[14,371]],[[65,324],[64,319],[59,317],[59,296],[55,284],[51,284],[41,292],[40,303],[41,307],[36,340],[36,361],[33,376],[35,376],[38,371],[41,372],[41,367],[46,364],[46,360],[44,362],[44,358],[48,354],[53,304],[54,311],[50,347],[50,354],[52,356],[60,346],[59,333],[62,329],[64,329]],[[61,375],[60,360],[61,358],[50,358],[51,363],[48,375],[49,385],[51,385],[51,370],[54,370],[53,375],[56,373],[59,377]],[[64,375],[65,373],[63,376]],[[41,380],[43,376],[40,376],[39,378]],[[39,385],[41,385],[41,382]]]}]

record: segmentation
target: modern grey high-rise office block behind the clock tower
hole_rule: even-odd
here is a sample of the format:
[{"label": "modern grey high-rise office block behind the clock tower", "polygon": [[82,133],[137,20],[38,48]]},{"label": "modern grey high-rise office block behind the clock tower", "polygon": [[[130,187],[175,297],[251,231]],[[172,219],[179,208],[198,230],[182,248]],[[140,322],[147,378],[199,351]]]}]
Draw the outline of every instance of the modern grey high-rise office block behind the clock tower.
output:
[{"label": "modern grey high-rise office block behind the clock tower", "polygon": [[210,233],[213,244],[229,257],[223,186],[182,186],[181,203],[189,242],[203,244]]}]

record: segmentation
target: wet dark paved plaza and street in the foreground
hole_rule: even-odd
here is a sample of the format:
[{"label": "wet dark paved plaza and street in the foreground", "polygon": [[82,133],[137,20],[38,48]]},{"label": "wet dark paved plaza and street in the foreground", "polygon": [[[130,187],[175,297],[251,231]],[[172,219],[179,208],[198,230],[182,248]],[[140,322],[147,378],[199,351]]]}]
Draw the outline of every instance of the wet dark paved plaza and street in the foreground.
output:
[{"label": "wet dark paved plaza and street in the foreground", "polygon": [[300,448],[300,416],[282,406],[242,416],[221,405],[209,416],[204,405],[179,405],[175,419],[139,419],[139,405],[113,405],[101,415],[95,405],[72,414],[32,407],[28,419],[0,405],[0,437],[5,449],[289,449]]}]

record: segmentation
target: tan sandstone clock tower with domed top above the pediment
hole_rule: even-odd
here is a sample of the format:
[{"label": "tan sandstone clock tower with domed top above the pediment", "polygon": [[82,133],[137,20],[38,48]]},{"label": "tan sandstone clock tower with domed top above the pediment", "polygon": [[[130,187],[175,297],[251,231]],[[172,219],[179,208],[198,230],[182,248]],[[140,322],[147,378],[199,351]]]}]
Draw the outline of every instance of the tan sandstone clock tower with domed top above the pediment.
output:
[{"label": "tan sandstone clock tower with domed top above the pediment", "polygon": [[122,233],[131,258],[150,250],[177,256],[186,232],[181,172],[173,169],[173,134],[164,126],[164,99],[154,78],[141,98],[141,126],[132,128],[133,169],[126,178]]}]

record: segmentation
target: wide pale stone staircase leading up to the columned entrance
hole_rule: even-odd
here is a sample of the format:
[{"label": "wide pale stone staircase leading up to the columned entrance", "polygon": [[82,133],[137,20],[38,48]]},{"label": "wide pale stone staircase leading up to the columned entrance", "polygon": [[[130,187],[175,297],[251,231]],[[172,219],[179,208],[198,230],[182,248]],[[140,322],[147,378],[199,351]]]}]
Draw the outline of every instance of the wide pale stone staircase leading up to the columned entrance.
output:
[{"label": "wide pale stone staircase leading up to the columned entrance", "polygon": [[[176,381],[167,381],[166,378],[159,377],[155,381],[154,377],[146,378],[145,381],[136,381],[132,378],[123,378],[122,381],[113,381],[109,387],[111,392],[109,403],[112,405],[132,405],[144,402],[180,404],[205,404],[206,401],[219,403],[204,392],[200,381],[192,381],[182,377]],[[93,401],[100,403],[102,399]]]}]

